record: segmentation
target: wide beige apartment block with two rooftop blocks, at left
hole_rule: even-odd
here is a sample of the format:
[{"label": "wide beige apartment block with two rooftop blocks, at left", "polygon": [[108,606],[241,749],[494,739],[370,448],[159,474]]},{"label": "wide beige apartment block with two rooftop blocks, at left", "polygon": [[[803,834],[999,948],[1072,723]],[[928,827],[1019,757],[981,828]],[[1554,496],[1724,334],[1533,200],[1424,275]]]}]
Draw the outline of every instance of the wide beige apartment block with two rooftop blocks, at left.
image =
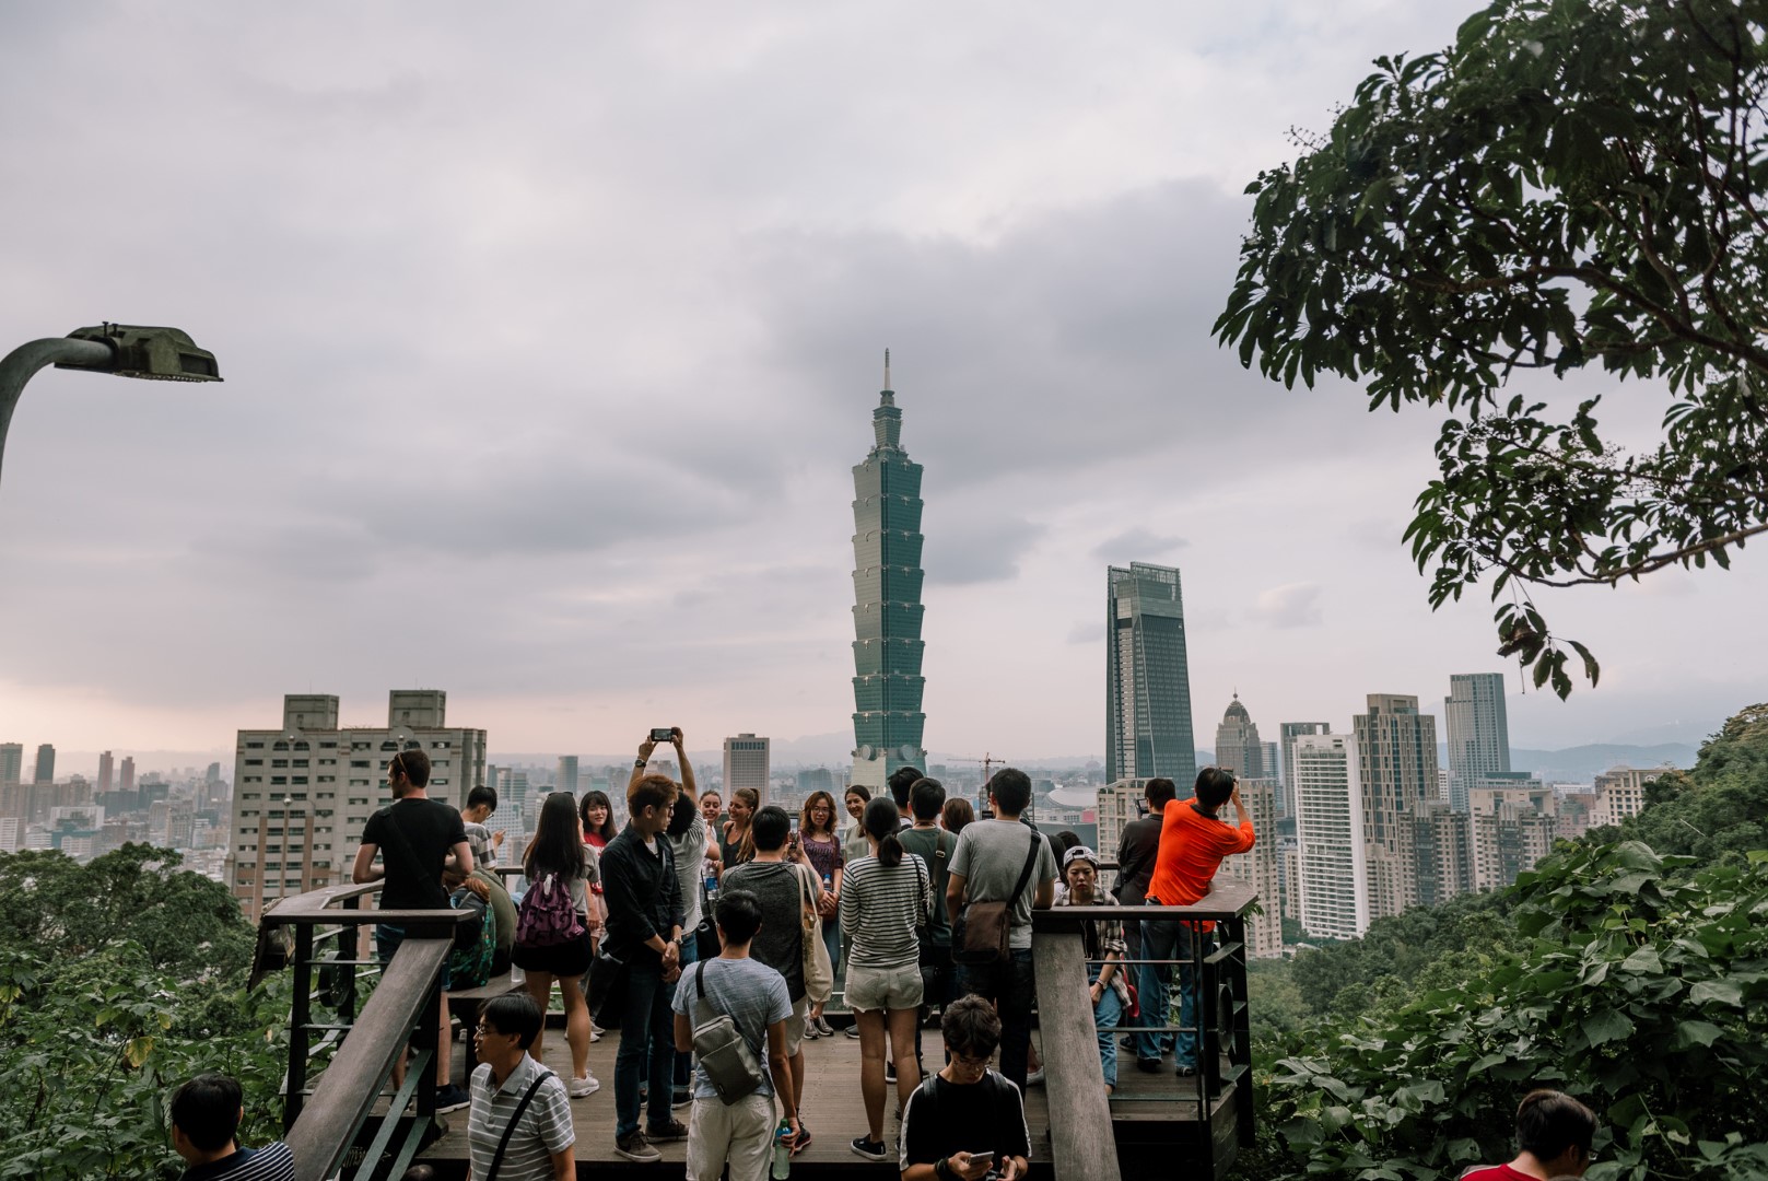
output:
[{"label": "wide beige apartment block with two rooftop blocks, at left", "polygon": [[385,727],[339,727],[336,697],[302,693],[283,698],[279,728],[239,732],[226,882],[246,918],[350,880],[362,826],[392,803],[394,753],[430,755],[430,797],[465,803],[484,778],[484,730],[449,727],[446,712],[440,690],[394,690]]}]

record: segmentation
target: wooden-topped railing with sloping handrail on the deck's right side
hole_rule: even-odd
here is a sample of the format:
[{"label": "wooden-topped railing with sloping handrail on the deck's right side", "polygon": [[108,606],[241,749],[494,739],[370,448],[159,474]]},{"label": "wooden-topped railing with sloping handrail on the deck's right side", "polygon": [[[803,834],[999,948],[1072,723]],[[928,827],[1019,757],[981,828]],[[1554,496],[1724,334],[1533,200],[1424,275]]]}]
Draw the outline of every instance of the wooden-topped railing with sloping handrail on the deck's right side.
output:
[{"label": "wooden-topped railing with sloping handrail on the deck's right side", "polygon": [[[1252,1029],[1246,1015],[1246,912],[1257,903],[1257,893],[1246,882],[1218,879],[1200,902],[1188,907],[1052,907],[1033,911],[1033,962],[1038,972],[1038,1027],[1043,1032],[1045,1087],[1050,1096],[1050,1153],[1055,1176],[1063,1181],[1116,1181],[1121,1176],[1140,1176],[1139,1165],[1124,1158],[1130,1146],[1124,1124],[1132,1117],[1147,1119],[1153,1103],[1188,1105],[1172,1130],[1190,1130],[1185,1137],[1195,1146],[1192,1162],[1208,1167],[1209,1176],[1222,1177],[1241,1147],[1254,1140],[1254,1109],[1250,1087]],[[1213,923],[1213,944],[1193,941],[1192,972],[1199,994],[1197,1025],[1197,1089],[1174,1087],[1165,1098],[1105,1098],[1105,1071],[1100,1063],[1093,1025],[1093,1004],[1087,994],[1086,951],[1080,925],[1086,921],[1181,921]],[[1144,949],[1146,951],[1146,949]],[[1124,967],[1137,979],[1140,960]],[[1176,962],[1174,962],[1176,964]],[[1172,972],[1169,1002],[1177,1001],[1177,972]],[[1147,999],[1142,999],[1144,1006]],[[1114,1027],[1119,1032],[1177,1031],[1167,1015],[1149,1020],[1144,1010],[1142,1024]],[[1119,1054],[1119,1061],[1121,1061]],[[1114,1112],[1112,1105],[1140,1105],[1144,1112]],[[1055,1114],[1063,1112],[1057,1119]],[[1179,1116],[1179,1112],[1174,1112]],[[1098,1128],[1112,1126],[1114,1137],[1096,1135]],[[1140,1153],[1135,1153],[1140,1154]],[[1179,1160],[1165,1154],[1163,1176],[1174,1176]]]}]

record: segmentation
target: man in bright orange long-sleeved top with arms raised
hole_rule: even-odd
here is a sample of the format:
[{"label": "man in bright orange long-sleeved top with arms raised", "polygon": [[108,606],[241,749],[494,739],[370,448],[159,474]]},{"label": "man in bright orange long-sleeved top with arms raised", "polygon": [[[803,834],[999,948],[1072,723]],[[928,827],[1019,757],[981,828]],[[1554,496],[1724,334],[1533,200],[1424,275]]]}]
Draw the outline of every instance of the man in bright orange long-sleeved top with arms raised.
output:
[{"label": "man in bright orange long-sleeved top with arms raised", "polygon": [[[1232,803],[1239,827],[1229,827],[1216,813]],[[1167,804],[1160,824],[1160,852],[1155,856],[1155,877],[1147,882],[1151,907],[1183,907],[1209,893],[1209,882],[1222,857],[1252,849],[1252,817],[1239,803],[1239,783],[1231,771],[1204,767],[1197,773],[1192,799]],[[1197,965],[1215,932],[1215,923],[1176,923],[1142,919],[1142,958],[1177,960],[1179,967],[1179,1025],[1172,1057],[1181,1077],[1197,1073]],[[1170,964],[1142,964],[1137,988],[1140,992],[1142,1024],[1155,1032],[1137,1034],[1137,1070],[1160,1070],[1160,1027],[1167,1024],[1167,985],[1172,983]]]}]

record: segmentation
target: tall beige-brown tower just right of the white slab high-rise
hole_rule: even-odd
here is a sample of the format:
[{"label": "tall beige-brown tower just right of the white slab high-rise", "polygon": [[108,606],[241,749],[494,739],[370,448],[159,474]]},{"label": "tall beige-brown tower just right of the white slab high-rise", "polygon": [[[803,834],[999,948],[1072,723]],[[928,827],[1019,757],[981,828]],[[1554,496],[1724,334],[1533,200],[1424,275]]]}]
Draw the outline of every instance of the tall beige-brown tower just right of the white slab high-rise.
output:
[{"label": "tall beige-brown tower just right of the white slab high-rise", "polygon": [[1368,907],[1388,918],[1418,905],[1413,822],[1437,799],[1436,718],[1418,698],[1370,693],[1368,712],[1351,718],[1363,787],[1363,840],[1368,845]]}]

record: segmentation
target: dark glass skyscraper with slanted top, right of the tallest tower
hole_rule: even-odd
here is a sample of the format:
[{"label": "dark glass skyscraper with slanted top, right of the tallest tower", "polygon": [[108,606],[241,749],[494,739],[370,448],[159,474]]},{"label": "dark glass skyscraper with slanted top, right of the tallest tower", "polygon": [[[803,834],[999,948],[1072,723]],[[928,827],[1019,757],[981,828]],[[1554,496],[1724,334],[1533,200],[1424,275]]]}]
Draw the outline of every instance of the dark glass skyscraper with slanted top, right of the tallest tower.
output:
[{"label": "dark glass skyscraper with slanted top, right of the tallest tower", "polygon": [[1197,780],[1179,571],[1105,571],[1105,780]]}]

